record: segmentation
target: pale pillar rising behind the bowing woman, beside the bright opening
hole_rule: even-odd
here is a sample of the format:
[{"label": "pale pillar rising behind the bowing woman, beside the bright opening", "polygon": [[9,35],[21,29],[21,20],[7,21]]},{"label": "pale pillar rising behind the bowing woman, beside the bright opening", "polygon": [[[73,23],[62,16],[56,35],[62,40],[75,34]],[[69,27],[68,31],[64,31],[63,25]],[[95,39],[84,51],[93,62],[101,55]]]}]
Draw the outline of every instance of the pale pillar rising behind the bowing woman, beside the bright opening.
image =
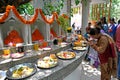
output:
[{"label": "pale pillar rising behind the bowing woman, beside the bright opening", "polygon": [[89,18],[89,8],[90,8],[90,0],[82,0],[82,25],[81,25],[81,32],[85,34],[86,26],[88,25],[88,18]]}]

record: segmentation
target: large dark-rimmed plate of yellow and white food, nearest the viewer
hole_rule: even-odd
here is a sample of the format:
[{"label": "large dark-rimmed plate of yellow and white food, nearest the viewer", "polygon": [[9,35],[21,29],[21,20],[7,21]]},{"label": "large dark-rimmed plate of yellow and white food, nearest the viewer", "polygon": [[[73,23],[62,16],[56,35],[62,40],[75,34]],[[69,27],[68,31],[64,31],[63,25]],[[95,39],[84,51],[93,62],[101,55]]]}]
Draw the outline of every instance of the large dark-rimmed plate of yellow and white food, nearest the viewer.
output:
[{"label": "large dark-rimmed plate of yellow and white food, nearest the viewer", "polygon": [[15,65],[6,72],[6,77],[12,80],[23,80],[27,77],[32,76],[37,71],[35,64],[23,63]]}]

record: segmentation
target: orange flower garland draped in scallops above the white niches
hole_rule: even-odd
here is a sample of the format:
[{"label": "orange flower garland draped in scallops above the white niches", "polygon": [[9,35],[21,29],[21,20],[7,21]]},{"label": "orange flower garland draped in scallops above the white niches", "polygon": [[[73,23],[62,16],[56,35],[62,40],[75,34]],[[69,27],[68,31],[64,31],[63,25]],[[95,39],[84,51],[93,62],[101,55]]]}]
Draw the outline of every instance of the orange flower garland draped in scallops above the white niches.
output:
[{"label": "orange flower garland draped in scallops above the white niches", "polygon": [[[2,17],[0,17],[0,22],[1,22],[1,23],[4,22],[4,21],[7,19],[7,17],[9,16],[10,10],[12,10],[12,11],[14,12],[14,14],[16,15],[16,17],[17,17],[21,22],[23,22],[24,24],[32,24],[32,23],[34,23],[34,22],[36,21],[37,17],[38,17],[38,13],[39,13],[39,12],[40,12],[40,15],[41,15],[42,19],[43,19],[46,23],[48,23],[48,24],[52,24],[52,23],[54,22],[55,18],[56,18],[56,20],[58,19],[58,14],[57,14],[56,12],[53,13],[52,18],[47,19],[46,16],[43,14],[42,9],[36,9],[36,10],[35,10],[35,15],[34,15],[30,20],[25,20],[23,17],[21,17],[21,16],[19,15],[19,12],[18,12],[17,9],[15,8],[15,6],[10,6],[10,5],[8,5],[8,6],[6,7],[6,12],[4,13],[4,15],[3,15]],[[68,16],[65,15],[65,14],[62,14],[62,16],[63,16],[64,18],[68,18]],[[57,22],[58,22],[58,24],[60,24],[58,20],[57,20]]]}]

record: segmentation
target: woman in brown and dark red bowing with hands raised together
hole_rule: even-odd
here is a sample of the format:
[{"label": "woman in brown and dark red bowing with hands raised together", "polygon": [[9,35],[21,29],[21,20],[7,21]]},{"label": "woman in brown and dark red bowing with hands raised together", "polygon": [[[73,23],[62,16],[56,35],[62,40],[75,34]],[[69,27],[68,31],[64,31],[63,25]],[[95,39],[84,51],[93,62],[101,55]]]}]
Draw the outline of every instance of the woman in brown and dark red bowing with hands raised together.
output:
[{"label": "woman in brown and dark red bowing with hands raised together", "polygon": [[101,80],[111,80],[116,77],[117,55],[114,40],[107,34],[102,34],[100,28],[91,28],[90,36],[97,39],[97,42],[90,41],[89,45],[98,52],[101,69]]}]

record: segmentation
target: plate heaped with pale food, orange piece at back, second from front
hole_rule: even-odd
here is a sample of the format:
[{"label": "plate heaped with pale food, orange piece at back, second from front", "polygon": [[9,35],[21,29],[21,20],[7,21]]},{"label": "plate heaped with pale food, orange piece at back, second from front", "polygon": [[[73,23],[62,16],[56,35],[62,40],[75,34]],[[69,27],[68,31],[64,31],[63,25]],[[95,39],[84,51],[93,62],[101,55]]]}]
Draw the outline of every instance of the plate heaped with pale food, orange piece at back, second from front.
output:
[{"label": "plate heaped with pale food, orange piece at back, second from front", "polygon": [[50,56],[45,56],[42,59],[39,59],[37,61],[37,66],[38,68],[42,68],[42,69],[50,69],[53,67],[56,67],[58,65],[58,60],[56,58],[56,56],[52,54]]}]

